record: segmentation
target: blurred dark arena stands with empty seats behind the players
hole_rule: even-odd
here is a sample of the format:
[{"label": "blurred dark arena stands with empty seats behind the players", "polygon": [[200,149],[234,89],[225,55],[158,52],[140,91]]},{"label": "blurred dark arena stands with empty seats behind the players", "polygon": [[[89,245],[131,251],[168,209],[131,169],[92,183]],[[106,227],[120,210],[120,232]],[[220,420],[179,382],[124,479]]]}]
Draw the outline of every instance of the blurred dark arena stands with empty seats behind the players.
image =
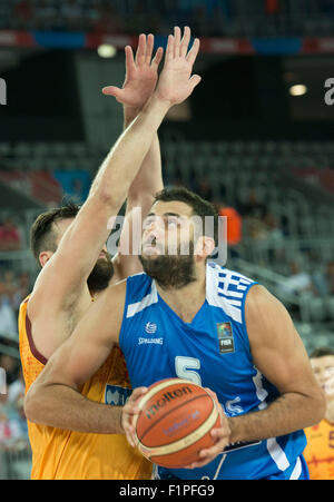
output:
[{"label": "blurred dark arena stands with empty seats behind the players", "polygon": [[228,268],[286,305],[307,351],[334,347],[334,1],[0,0],[0,479],[30,469],[17,332],[38,272],[29,227],[85,200],[122,128],[101,88],[122,83],[126,45],[153,32],[165,46],[175,24],[202,40],[203,81],[159,130],[165,184],[228,214]]}]

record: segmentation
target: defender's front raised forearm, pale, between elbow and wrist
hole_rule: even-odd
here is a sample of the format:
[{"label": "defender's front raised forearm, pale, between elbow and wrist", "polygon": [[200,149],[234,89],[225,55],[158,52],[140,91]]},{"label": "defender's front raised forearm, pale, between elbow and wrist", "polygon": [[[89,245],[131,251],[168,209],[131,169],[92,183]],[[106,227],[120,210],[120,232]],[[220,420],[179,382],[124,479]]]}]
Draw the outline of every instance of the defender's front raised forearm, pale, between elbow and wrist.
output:
[{"label": "defender's front raised forearm, pale, between elbow and wrist", "polygon": [[100,191],[115,205],[122,204],[169,107],[155,95],[151,97],[106,157],[90,195]]}]

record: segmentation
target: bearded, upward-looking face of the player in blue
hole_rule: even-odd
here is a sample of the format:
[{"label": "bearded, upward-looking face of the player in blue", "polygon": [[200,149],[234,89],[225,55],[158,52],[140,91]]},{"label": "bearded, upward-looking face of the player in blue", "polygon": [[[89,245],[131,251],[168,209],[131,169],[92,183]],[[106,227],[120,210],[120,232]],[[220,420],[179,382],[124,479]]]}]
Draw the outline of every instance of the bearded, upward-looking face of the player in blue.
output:
[{"label": "bearded, upward-looking face of the player in blue", "polygon": [[179,288],[196,278],[191,215],[185,203],[158,201],[144,222],[139,259],[161,287]]}]

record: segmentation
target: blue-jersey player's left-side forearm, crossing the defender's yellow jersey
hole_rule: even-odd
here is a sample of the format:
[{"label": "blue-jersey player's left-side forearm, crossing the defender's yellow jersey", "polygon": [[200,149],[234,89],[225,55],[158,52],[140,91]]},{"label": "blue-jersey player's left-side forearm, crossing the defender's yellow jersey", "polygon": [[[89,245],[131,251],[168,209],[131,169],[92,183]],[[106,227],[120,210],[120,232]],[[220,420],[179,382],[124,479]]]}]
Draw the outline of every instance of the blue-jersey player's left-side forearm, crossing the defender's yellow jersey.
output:
[{"label": "blue-jersey player's left-side forearm, crossing the defender's yellow jersey", "polygon": [[29,393],[24,412],[30,422],[82,433],[124,434],[120,406],[89,401],[65,385],[47,385]]}]

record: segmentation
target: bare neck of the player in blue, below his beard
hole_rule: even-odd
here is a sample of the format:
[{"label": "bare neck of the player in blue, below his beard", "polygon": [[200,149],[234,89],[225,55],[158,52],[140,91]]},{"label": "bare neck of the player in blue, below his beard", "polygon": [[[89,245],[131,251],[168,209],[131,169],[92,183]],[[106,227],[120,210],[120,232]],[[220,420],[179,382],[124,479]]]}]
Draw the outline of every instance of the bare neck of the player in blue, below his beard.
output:
[{"label": "bare neck of the player in blue, below his beard", "polygon": [[190,323],[206,297],[206,270],[197,270],[196,280],[181,288],[161,288],[157,284],[160,297],[185,322]]}]

